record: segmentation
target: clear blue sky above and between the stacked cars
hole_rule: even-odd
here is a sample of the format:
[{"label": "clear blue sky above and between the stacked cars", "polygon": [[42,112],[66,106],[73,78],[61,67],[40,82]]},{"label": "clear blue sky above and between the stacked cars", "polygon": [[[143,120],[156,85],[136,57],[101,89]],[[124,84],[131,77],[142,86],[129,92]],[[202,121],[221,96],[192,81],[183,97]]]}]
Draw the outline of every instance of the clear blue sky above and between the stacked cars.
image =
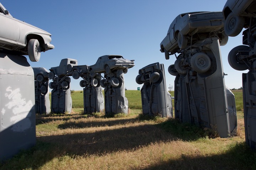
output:
[{"label": "clear blue sky above and between the stacked cars", "polygon": [[[78,65],[93,65],[102,55],[122,55],[135,60],[135,66],[125,74],[125,87],[137,90],[135,82],[140,68],[160,62],[164,64],[167,88],[174,86],[174,76],[167,71],[175,56],[165,60],[160,43],[169,25],[180,13],[222,11],[225,0],[1,0],[10,14],[52,34],[53,50],[41,54],[32,67],[47,69],[59,65],[61,59],[78,60]],[[242,33],[229,37],[221,46],[226,86],[242,86],[242,73],[228,64],[228,53],[242,45]],[[71,89],[82,90],[71,77]]]}]

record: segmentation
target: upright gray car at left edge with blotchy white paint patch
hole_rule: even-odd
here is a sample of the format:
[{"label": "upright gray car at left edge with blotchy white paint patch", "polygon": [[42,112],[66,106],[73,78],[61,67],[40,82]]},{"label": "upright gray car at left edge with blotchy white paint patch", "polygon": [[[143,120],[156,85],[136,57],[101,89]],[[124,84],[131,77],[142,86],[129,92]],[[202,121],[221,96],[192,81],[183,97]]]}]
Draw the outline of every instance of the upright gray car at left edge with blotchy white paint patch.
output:
[{"label": "upright gray car at left edge with blotchy white paint patch", "polygon": [[0,160],[36,143],[35,84],[26,57],[0,53]]}]

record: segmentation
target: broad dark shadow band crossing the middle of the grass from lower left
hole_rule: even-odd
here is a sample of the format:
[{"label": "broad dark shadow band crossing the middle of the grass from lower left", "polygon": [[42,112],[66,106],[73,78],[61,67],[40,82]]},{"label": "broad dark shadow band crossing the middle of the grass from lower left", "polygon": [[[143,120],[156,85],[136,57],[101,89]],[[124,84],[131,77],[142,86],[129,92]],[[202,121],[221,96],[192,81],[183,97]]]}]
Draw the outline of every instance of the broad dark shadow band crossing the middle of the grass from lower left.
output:
[{"label": "broad dark shadow band crossing the middle of the grass from lower left", "polygon": [[[132,120],[125,119],[124,122],[121,122],[125,124],[126,121],[131,122]],[[144,120],[140,119],[140,121]],[[120,124],[120,120],[101,122],[101,124],[106,123],[111,126]],[[100,156],[117,151],[136,150],[151,143],[180,139],[193,141],[205,137],[205,132],[202,129],[193,125],[181,124],[174,119],[157,125],[129,125],[131,126],[123,126],[118,129],[106,127],[105,130],[95,130],[94,132],[37,137],[35,147],[6,161],[0,165],[0,169],[37,169],[53,158],[60,158],[67,154],[72,158],[76,156]],[[88,124],[81,124],[81,126],[87,127]],[[99,125],[95,124],[94,126]],[[190,158],[185,156],[184,160],[186,159]],[[163,162],[163,165],[159,166],[167,167],[169,164],[178,165],[178,163],[182,164],[182,161]],[[158,167],[152,167],[152,169],[158,169]]]}]

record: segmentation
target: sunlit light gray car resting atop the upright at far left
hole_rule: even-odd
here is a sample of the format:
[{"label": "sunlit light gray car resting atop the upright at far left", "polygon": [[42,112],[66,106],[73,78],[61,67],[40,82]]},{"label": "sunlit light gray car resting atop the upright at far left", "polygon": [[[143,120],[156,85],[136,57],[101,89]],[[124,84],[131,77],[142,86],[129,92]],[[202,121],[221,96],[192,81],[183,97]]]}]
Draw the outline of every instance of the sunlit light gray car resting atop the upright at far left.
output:
[{"label": "sunlit light gray car resting atop the upright at far left", "polygon": [[15,55],[28,55],[39,61],[41,51],[54,48],[51,34],[26,22],[17,20],[0,3],[0,50]]}]

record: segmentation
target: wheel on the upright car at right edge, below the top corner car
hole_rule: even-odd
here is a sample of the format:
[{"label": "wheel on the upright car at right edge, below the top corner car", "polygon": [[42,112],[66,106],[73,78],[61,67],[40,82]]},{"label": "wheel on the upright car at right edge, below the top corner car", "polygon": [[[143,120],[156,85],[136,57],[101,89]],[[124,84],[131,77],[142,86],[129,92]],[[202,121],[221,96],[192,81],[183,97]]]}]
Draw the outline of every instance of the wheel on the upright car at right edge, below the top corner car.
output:
[{"label": "wheel on the upright car at right edge, below the top corner car", "polygon": [[243,60],[241,56],[249,55],[250,47],[247,45],[239,45],[233,48],[228,55],[229,65],[235,70],[243,71],[249,68],[249,62]]}]

